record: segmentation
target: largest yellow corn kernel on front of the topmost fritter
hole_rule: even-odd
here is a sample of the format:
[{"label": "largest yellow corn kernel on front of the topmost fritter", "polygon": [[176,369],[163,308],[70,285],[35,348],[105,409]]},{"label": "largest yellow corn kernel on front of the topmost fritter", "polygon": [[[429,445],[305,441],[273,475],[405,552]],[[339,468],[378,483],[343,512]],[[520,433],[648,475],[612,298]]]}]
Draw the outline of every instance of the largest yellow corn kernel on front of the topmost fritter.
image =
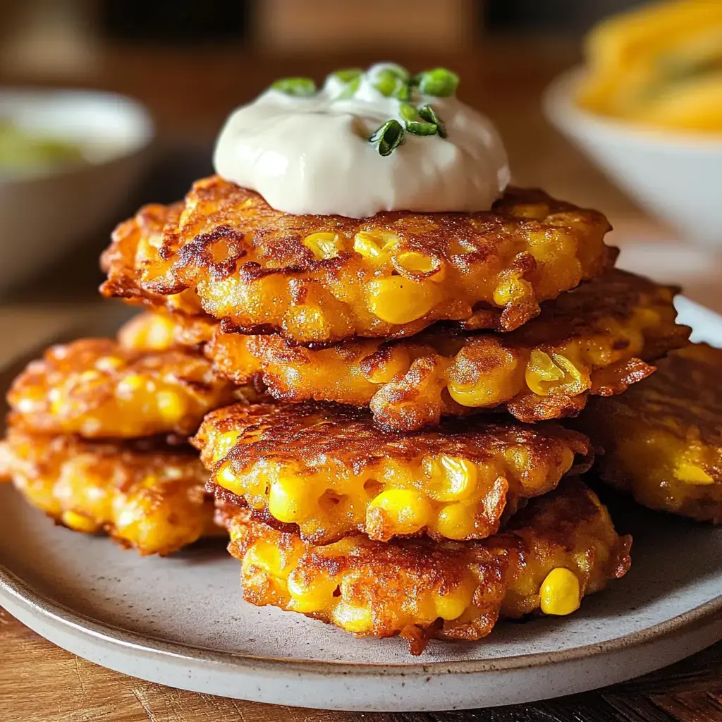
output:
[{"label": "largest yellow corn kernel on front of the topmost fritter", "polygon": [[410,281],[389,276],[368,284],[371,313],[388,323],[410,323],[434,308],[440,292],[430,281]]}]

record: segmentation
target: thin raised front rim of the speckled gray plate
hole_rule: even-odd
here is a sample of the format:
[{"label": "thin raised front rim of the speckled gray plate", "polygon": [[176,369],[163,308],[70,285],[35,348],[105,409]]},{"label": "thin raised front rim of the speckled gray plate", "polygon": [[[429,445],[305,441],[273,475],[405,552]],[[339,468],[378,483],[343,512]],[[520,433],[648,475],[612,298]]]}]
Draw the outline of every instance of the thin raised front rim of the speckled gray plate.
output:
[{"label": "thin raised front rim of the speckled gray plate", "polygon": [[[214,651],[203,647],[185,645],[179,642],[158,639],[139,632],[116,627],[98,619],[87,617],[69,606],[49,599],[35,591],[30,583],[0,565],[0,603],[4,598],[12,597],[29,612],[42,615],[49,622],[65,627],[81,635],[98,638],[113,646],[135,649],[146,655],[171,656],[199,663],[216,663],[235,666],[251,671],[279,671],[303,673],[314,677],[333,675],[353,675],[354,677],[428,677],[431,675],[485,674],[489,672],[522,671],[551,664],[604,657],[630,648],[641,647],[648,643],[682,632],[697,625],[704,625],[719,615],[722,622],[722,593],[714,599],[703,602],[686,612],[677,614],[663,622],[627,635],[588,643],[578,647],[549,652],[528,653],[487,659],[464,659],[448,661],[409,661],[375,664],[373,662],[347,662],[306,659],[292,657],[262,657],[253,654]],[[323,624],[323,622],[318,622]],[[722,624],[720,625],[722,639]]]}]

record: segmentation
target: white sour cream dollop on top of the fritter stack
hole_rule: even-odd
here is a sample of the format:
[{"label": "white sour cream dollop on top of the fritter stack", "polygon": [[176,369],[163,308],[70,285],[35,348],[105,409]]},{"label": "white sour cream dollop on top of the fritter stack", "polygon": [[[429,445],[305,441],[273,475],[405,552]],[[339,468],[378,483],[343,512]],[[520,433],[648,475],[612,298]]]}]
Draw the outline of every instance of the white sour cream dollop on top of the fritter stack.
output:
[{"label": "white sour cream dollop on top of the fritter stack", "polygon": [[386,156],[369,142],[391,118],[404,125],[399,100],[373,84],[389,67],[398,68],[368,69],[352,97],[339,97],[347,85],[333,75],[313,95],[266,90],[226,121],[214,152],[216,173],[298,215],[489,210],[509,183],[507,155],[489,119],[455,95],[416,91],[409,99],[432,106],[445,138],[406,132]]}]

